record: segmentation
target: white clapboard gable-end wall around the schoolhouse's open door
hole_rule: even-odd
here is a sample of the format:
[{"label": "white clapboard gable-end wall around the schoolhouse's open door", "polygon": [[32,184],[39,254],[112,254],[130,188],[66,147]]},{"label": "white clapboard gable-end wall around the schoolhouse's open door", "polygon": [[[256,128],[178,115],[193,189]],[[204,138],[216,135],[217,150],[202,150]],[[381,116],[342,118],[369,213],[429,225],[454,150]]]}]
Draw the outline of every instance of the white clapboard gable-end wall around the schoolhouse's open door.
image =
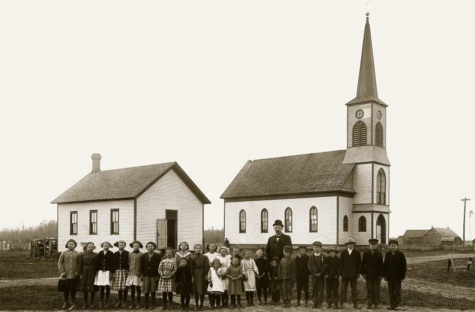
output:
[{"label": "white clapboard gable-end wall around the schoolhouse's open door", "polygon": [[[157,219],[178,210],[178,242],[190,248],[203,241],[203,205],[175,171],[168,171],[137,199],[137,239],[157,243]],[[171,246],[177,248],[177,246]]]}]

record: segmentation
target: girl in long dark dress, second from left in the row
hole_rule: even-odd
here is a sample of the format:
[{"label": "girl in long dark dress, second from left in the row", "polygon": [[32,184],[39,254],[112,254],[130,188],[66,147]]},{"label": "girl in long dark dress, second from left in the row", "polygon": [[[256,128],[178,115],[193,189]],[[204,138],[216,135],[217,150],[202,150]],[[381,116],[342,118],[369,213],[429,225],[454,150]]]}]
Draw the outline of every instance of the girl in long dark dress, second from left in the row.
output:
[{"label": "girl in long dark dress, second from left in the row", "polygon": [[[79,274],[81,275],[81,283],[79,285],[79,291],[84,294],[84,306],[86,308],[94,308],[94,297],[97,291],[97,286],[94,286],[95,274],[97,273],[97,263],[95,257],[97,254],[94,252],[95,246],[93,242],[88,242],[84,246],[84,252],[81,254],[82,261],[79,266]],[[91,293],[91,304],[89,304],[89,293]]]}]

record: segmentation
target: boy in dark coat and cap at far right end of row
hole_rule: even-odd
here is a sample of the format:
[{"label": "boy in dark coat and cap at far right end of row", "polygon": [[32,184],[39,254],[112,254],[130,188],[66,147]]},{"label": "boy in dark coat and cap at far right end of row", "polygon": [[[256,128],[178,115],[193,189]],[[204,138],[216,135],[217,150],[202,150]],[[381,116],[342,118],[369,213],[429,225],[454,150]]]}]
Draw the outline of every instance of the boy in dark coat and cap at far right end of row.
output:
[{"label": "boy in dark coat and cap at far right end of row", "polygon": [[401,283],[406,278],[406,256],[398,250],[399,243],[396,240],[389,241],[390,251],[384,256],[383,275],[387,281],[389,293],[388,310],[399,310],[401,303]]}]

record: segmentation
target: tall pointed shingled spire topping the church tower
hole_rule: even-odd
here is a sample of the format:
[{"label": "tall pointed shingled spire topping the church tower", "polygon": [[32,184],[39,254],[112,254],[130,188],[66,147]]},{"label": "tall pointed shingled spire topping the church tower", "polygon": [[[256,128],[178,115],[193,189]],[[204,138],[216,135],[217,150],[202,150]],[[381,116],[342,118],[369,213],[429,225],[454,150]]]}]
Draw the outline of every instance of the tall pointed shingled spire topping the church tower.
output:
[{"label": "tall pointed shingled spire topping the church tower", "polygon": [[376,88],[375,61],[373,58],[373,44],[371,42],[369,12],[366,12],[365,34],[363,37],[363,49],[361,52],[360,75],[358,77],[358,90],[356,98],[347,104],[356,104],[368,101],[377,101],[383,105],[378,99],[378,90]]}]

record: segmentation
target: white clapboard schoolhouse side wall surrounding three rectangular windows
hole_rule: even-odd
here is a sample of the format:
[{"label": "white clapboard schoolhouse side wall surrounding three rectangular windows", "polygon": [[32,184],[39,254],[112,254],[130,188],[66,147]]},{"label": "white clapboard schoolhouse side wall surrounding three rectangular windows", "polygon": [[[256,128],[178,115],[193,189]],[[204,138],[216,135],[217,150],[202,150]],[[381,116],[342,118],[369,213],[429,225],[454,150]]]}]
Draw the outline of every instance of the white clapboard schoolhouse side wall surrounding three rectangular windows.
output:
[{"label": "white clapboard schoolhouse side wall surrounding three rectangular windows", "polygon": [[[119,209],[119,234],[110,234],[110,209]],[[97,234],[89,234],[89,211],[97,210]],[[78,234],[70,235],[70,212],[78,211]],[[118,240],[127,243],[134,239],[134,201],[105,201],[91,203],[73,203],[58,205],[58,250],[62,251],[69,239],[78,243],[93,242],[96,251],[100,250],[100,243],[109,241],[111,244]],[[128,250],[132,250],[127,246]],[[112,249],[114,251],[114,249]]]}]

